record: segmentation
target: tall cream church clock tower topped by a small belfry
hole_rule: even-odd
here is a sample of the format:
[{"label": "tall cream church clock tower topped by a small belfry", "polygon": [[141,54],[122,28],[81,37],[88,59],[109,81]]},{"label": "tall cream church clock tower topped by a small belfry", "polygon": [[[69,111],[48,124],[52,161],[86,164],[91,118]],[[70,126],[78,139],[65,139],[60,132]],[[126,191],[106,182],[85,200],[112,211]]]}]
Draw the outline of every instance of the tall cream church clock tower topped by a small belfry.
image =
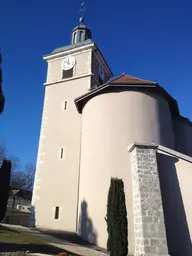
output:
[{"label": "tall cream church clock tower topped by a small belfry", "polygon": [[83,17],[71,38],[43,57],[48,68],[30,225],[76,232],[82,115],[74,100],[112,72]]}]

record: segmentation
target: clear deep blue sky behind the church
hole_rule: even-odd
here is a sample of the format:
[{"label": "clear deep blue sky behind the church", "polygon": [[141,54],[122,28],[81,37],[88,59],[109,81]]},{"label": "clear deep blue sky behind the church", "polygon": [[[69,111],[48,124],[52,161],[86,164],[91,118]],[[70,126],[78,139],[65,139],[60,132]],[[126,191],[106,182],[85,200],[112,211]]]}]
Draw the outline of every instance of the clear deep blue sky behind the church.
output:
[{"label": "clear deep blue sky behind the church", "polygon": [[[70,44],[80,0],[1,0],[3,90],[0,139],[23,163],[36,162],[47,65],[42,55]],[[87,0],[86,25],[114,75],[157,81],[192,119],[192,1]]]}]

